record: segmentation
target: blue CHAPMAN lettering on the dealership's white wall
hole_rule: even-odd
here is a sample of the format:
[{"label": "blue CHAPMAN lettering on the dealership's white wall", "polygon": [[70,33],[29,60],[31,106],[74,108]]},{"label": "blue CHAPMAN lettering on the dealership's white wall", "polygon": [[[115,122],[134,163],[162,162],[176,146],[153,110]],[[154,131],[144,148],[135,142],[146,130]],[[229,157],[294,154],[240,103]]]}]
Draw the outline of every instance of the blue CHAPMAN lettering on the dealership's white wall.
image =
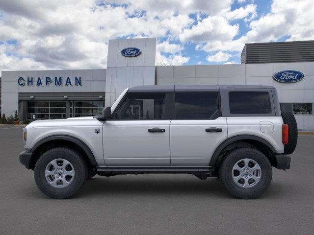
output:
[{"label": "blue CHAPMAN lettering on the dealership's white wall", "polygon": [[[23,87],[26,84],[27,86],[34,86],[34,84],[36,83],[37,87],[44,86],[43,84],[45,84],[48,87],[52,83],[52,80],[54,80],[53,84],[56,87],[62,86],[63,84],[63,77],[54,77],[54,79],[52,79],[51,77],[45,77],[45,79],[38,77],[36,81],[33,77],[27,77],[26,79],[24,77],[19,77],[18,84],[19,86]],[[65,79],[65,86],[72,86],[72,83],[73,81],[71,81],[71,77],[67,77]],[[82,77],[81,76],[75,77],[74,84],[76,86],[81,86]]]}]

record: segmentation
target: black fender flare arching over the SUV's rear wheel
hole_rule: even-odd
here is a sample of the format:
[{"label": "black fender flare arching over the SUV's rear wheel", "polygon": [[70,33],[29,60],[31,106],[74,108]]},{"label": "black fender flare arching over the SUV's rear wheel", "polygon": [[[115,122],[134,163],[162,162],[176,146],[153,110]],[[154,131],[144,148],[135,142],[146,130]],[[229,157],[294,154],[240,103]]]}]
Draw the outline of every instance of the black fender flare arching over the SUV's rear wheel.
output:
[{"label": "black fender flare arching over the SUV's rear wheel", "polygon": [[264,140],[262,137],[259,136],[254,136],[254,135],[238,135],[238,136],[233,136],[231,138],[228,138],[227,140],[223,141],[222,143],[219,144],[219,146],[215,149],[214,153],[212,154],[212,157],[210,159],[209,165],[214,166],[216,164],[216,161],[218,160],[218,157],[222,150],[226,148],[229,144],[235,142],[235,141],[242,141],[242,140],[252,140],[252,141],[259,141],[263,144],[265,144],[267,147],[270,148],[270,150],[273,153],[276,153],[277,151],[275,148],[269,143],[268,141]]}]

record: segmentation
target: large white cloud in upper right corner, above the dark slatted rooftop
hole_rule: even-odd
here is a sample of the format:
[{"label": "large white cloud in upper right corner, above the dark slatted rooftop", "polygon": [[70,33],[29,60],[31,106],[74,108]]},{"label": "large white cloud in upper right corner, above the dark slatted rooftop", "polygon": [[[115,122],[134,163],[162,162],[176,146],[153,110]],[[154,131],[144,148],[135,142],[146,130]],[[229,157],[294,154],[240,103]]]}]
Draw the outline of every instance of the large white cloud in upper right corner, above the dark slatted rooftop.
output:
[{"label": "large white cloud in upper right corner, above the dark slatted rooftop", "polygon": [[283,36],[289,36],[288,41],[313,40],[313,15],[312,0],[274,0],[271,11],[252,21],[246,34],[236,40],[208,40],[205,45],[198,46],[198,49],[206,52],[223,50],[240,53],[245,43],[277,41]]}]

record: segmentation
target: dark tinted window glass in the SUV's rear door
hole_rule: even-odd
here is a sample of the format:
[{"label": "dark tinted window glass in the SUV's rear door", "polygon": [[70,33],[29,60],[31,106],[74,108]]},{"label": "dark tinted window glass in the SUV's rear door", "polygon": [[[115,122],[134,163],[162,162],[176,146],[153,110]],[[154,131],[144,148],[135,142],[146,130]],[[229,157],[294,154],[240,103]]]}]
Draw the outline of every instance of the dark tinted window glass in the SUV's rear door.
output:
[{"label": "dark tinted window glass in the SUV's rear door", "polygon": [[175,102],[176,119],[216,119],[219,117],[218,93],[176,93]]}]

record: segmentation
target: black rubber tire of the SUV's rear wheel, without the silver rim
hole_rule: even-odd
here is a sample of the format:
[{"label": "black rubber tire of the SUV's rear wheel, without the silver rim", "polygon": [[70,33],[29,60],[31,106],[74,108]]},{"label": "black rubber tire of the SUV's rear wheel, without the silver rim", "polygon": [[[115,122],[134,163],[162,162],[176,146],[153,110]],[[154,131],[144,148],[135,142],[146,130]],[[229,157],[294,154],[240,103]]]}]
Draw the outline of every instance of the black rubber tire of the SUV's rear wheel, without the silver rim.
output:
[{"label": "black rubber tire of the SUV's rear wheel, without the silver rim", "polygon": [[[234,165],[241,159],[252,159],[262,169],[260,181],[252,188],[242,188],[235,184],[232,177]],[[253,199],[266,191],[272,179],[272,168],[266,156],[254,148],[237,148],[230,151],[219,164],[219,178],[224,187],[235,197]]]}]

